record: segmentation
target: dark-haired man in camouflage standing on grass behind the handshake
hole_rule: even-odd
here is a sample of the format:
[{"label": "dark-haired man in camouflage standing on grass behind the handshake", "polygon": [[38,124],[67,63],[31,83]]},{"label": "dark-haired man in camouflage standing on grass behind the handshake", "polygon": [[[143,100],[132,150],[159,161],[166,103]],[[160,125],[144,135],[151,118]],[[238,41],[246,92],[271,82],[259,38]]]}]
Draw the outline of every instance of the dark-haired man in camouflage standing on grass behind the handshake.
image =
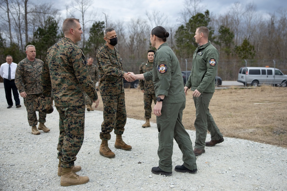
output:
[{"label": "dark-haired man in camouflage standing on grass behind the handshake", "polygon": [[[139,66],[139,74],[152,71],[154,52],[154,50],[148,51],[148,61]],[[139,80],[139,86],[141,87],[141,92],[144,93],[144,118],[146,119],[146,123],[141,127],[146,128],[150,127],[150,118],[152,117],[152,101],[154,101],[154,104],[156,104],[156,94],[154,93],[154,83],[152,80]]]}]

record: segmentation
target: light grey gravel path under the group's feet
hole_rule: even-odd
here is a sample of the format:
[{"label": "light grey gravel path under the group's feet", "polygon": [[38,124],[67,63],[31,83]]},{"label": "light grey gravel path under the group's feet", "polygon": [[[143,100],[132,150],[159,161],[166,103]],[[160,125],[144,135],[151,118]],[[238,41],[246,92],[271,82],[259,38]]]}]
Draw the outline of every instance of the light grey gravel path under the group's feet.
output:
[{"label": "light grey gravel path under the group's feet", "polygon": [[[112,133],[109,145],[116,157],[103,157],[99,154],[101,111],[86,111],[84,144],[75,162],[82,166],[77,174],[90,181],[62,187],[57,176],[58,112],[47,115],[50,132],[32,135],[20,100],[21,108],[6,109],[5,91],[0,88],[0,190],[287,190],[285,148],[229,137],[205,148],[197,157],[196,174],[174,170],[168,177],[152,174],[151,168],[158,166],[156,124],[141,128],[144,121],[136,119],[127,119],[123,135],[133,149],[115,149]],[[195,131],[188,133],[194,144]],[[175,141],[172,160],[173,166],[183,163]]]}]

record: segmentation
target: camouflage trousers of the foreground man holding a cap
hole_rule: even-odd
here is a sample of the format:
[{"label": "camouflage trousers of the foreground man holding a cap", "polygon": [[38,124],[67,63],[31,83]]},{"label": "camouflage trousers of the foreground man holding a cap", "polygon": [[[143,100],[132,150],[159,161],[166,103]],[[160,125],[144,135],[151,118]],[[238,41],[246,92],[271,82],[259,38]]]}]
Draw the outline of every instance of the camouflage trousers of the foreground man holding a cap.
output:
[{"label": "camouflage trousers of the foreground man holding a cap", "polygon": [[59,107],[59,142],[57,146],[58,159],[61,159],[61,166],[69,168],[74,165],[76,155],[84,141],[85,127],[85,105]]}]

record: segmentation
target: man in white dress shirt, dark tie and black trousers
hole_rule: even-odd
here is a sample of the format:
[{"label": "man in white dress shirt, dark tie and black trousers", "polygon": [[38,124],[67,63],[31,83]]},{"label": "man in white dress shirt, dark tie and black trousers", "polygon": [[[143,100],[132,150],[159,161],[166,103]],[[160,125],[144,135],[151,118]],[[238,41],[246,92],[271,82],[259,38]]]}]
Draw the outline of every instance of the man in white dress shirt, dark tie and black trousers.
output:
[{"label": "man in white dress shirt, dark tie and black trousers", "polygon": [[16,68],[17,64],[13,62],[13,58],[11,55],[6,56],[6,63],[1,64],[0,67],[0,74],[1,77],[4,79],[4,89],[8,104],[7,109],[13,106],[11,90],[13,92],[16,108],[21,107],[18,89],[15,85]]}]

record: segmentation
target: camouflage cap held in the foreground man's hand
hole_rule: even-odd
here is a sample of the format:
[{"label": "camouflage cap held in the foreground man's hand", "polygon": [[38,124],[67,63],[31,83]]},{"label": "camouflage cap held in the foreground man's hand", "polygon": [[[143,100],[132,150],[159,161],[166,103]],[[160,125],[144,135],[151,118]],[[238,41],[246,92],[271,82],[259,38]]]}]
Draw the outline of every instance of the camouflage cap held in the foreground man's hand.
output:
[{"label": "camouflage cap held in the foreground man's hand", "polygon": [[48,97],[44,97],[43,95],[34,99],[33,108],[34,111],[39,111],[47,114],[54,111],[51,99]]}]

